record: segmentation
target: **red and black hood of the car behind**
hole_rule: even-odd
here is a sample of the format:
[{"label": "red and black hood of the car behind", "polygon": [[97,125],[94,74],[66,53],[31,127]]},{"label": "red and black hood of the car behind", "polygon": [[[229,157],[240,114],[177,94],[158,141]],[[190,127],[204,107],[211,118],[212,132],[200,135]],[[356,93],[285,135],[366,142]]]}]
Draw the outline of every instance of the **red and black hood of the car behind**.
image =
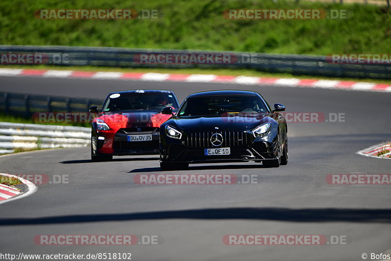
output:
[{"label": "red and black hood of the car behind", "polygon": [[102,113],[96,119],[102,119],[110,128],[130,128],[134,126],[160,127],[160,125],[171,115],[163,115],[159,110],[128,111],[128,112],[107,112]]}]

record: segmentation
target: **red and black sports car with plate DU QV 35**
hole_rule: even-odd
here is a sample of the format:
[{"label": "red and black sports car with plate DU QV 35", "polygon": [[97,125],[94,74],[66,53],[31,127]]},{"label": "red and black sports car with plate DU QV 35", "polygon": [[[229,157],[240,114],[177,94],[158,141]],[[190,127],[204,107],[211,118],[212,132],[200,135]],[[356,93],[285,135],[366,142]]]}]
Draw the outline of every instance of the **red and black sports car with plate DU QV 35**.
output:
[{"label": "red and black sports car with plate DU QV 35", "polygon": [[[171,91],[130,90],[110,93],[101,114],[92,121],[91,159],[111,160],[113,155],[159,154],[159,127],[170,118],[163,108],[179,107]],[[90,113],[99,113],[93,106]]]}]

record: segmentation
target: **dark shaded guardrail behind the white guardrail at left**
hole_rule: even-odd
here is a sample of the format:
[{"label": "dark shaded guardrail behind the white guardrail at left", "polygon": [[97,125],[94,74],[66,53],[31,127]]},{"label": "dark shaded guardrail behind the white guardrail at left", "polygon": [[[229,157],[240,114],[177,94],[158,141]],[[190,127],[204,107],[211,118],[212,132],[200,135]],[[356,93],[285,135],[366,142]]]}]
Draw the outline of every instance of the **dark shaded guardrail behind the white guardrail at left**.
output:
[{"label": "dark shaded guardrail behind the white guardrail at left", "polygon": [[91,106],[102,106],[101,99],[67,98],[0,92],[0,112],[31,117],[39,112],[88,112]]}]

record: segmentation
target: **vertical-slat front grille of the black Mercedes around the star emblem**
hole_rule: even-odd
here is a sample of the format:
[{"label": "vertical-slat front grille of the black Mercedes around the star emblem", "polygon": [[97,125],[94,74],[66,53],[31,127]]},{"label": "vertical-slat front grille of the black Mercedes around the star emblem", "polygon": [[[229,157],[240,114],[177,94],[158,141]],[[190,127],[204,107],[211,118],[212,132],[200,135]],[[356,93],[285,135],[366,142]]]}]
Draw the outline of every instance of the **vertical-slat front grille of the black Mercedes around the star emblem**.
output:
[{"label": "vertical-slat front grille of the black Mercedes around the star emblem", "polygon": [[[211,142],[211,137],[215,133],[219,133],[223,137],[223,142],[219,146],[215,146]],[[184,144],[190,147],[219,148],[245,145],[248,142],[248,134],[242,131],[210,131],[189,133],[185,138]]]}]

